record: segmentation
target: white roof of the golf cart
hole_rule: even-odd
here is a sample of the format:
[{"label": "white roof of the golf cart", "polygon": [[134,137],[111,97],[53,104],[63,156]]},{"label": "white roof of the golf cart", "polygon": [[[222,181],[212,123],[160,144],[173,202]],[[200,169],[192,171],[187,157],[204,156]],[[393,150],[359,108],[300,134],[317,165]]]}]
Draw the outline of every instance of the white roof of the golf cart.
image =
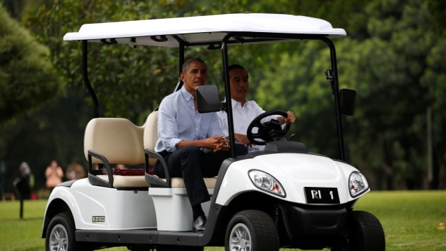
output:
[{"label": "white roof of the golf cart", "polygon": [[253,36],[249,43],[346,36],[344,29],[334,29],[330,22],[314,17],[252,13],[84,24],[78,32],[66,33],[63,40],[178,47],[180,43],[191,46],[220,43],[227,33],[238,32],[252,33],[257,38],[261,33],[302,35],[275,39],[253,39]]}]

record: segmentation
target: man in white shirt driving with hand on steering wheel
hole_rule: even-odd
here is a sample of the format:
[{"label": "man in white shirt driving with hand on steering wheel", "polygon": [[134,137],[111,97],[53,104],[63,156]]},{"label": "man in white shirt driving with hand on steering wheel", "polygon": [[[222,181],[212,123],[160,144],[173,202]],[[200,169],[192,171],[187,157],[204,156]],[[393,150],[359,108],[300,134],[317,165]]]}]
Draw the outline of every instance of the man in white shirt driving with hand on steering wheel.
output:
[{"label": "man in white shirt driving with hand on steering wheel", "polygon": [[[249,91],[249,75],[247,70],[243,66],[234,64],[229,66],[228,71],[229,83],[231,84],[231,103],[236,142],[247,146],[248,152],[261,151],[265,146],[259,146],[249,142],[246,133],[249,123],[265,111],[257,105],[256,101],[246,99]],[[284,123],[294,123],[295,116],[293,112],[288,111],[286,113],[288,114],[287,118],[284,116],[270,116],[263,119],[262,122],[276,119],[281,125]],[[226,112],[218,112],[218,119],[224,135],[229,135]]]}]

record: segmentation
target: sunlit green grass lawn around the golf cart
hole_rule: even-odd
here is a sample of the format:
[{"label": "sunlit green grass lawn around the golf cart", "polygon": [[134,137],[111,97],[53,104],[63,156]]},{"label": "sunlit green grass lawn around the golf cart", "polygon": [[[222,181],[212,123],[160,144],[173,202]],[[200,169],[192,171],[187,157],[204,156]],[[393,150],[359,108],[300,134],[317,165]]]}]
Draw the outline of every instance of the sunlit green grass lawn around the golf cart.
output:
[{"label": "sunlit green grass lawn around the golf cart", "polygon": [[[0,250],[45,250],[42,232],[45,200],[0,202]],[[376,215],[385,232],[386,250],[446,250],[446,191],[374,191],[362,197],[355,210]],[[106,250],[127,250],[109,248]],[[222,251],[224,248],[205,248]]]}]

